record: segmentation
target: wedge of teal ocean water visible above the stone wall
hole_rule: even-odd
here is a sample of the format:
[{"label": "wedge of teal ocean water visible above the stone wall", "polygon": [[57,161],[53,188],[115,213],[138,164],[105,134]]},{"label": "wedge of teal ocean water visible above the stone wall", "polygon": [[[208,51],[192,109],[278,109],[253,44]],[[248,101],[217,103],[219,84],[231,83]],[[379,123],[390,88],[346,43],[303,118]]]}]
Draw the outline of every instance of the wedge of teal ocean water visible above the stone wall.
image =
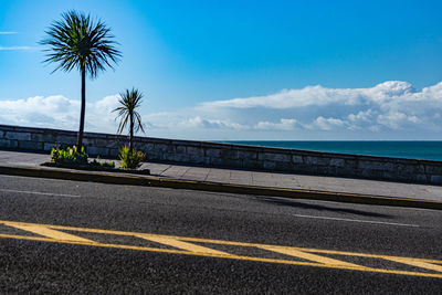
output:
[{"label": "wedge of teal ocean water visible above the stone wall", "polygon": [[219,141],[219,143],[262,146],[262,147],[294,148],[294,149],[352,154],[352,155],[408,158],[408,159],[442,160],[442,141],[240,140],[240,141]]}]

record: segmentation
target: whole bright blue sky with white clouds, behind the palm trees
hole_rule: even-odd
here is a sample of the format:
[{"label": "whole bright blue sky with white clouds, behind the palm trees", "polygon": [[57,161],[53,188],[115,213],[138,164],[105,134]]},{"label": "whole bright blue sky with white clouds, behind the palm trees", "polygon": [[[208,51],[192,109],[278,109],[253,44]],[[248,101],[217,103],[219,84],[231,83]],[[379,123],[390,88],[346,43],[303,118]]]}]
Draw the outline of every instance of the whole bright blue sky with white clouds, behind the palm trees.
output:
[{"label": "whole bright blue sky with white clouds, behind the palm trees", "polygon": [[0,124],[75,130],[80,74],[51,74],[44,30],[70,9],[123,59],[87,81],[86,130],[115,133],[145,93],[147,135],[190,139],[440,139],[440,1],[0,0]]}]

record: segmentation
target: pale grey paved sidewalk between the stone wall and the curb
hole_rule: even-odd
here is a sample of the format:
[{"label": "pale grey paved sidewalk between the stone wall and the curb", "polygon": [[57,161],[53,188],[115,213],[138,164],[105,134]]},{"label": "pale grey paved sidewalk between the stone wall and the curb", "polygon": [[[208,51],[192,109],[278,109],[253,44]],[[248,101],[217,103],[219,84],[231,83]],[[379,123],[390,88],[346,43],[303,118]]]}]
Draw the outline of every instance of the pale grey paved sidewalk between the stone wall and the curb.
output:
[{"label": "pale grey paved sidewalk between the stone wall and the curb", "polygon": [[[40,164],[45,161],[50,161],[49,155],[0,150],[0,166],[3,167],[69,170],[41,167]],[[144,164],[141,168],[150,169],[151,176],[146,176],[145,178],[147,179],[150,177],[275,189],[315,190],[390,198],[409,198],[422,201],[442,202],[442,187],[439,186],[151,162]]]}]

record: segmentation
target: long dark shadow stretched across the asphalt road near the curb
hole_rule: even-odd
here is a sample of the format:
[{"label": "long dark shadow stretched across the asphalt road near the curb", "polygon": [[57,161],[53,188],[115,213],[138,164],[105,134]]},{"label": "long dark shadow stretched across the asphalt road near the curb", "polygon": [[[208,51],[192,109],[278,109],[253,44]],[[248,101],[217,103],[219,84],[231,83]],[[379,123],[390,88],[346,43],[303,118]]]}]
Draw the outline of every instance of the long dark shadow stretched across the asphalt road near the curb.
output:
[{"label": "long dark shadow stretched across the asphalt road near the curb", "polygon": [[263,201],[266,203],[272,203],[275,206],[285,206],[285,207],[293,207],[293,208],[307,209],[307,210],[330,211],[330,212],[356,214],[356,215],[371,217],[371,218],[385,218],[385,219],[393,218],[392,215],[389,215],[389,214],[376,213],[376,212],[370,212],[370,211],[365,211],[365,210],[304,203],[304,202],[298,202],[298,201],[293,201],[293,200],[284,200],[284,199],[272,198],[272,197],[260,197],[256,200]]}]

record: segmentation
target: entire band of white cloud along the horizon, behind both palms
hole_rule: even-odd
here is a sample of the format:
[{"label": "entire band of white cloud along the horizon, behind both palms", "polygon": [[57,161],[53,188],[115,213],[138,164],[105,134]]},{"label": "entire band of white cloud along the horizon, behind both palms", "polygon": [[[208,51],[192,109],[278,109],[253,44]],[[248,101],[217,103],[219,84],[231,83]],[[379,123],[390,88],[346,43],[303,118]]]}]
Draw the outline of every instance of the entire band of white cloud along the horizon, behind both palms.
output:
[{"label": "entire band of white cloud along the horizon, behind both palms", "polygon": [[[88,103],[86,129],[115,133],[117,101],[110,95]],[[80,101],[61,95],[0,101],[0,124],[76,129],[80,117]],[[431,139],[442,133],[442,83],[421,91],[398,81],[369,88],[308,86],[141,115],[147,135],[157,137]]]}]

